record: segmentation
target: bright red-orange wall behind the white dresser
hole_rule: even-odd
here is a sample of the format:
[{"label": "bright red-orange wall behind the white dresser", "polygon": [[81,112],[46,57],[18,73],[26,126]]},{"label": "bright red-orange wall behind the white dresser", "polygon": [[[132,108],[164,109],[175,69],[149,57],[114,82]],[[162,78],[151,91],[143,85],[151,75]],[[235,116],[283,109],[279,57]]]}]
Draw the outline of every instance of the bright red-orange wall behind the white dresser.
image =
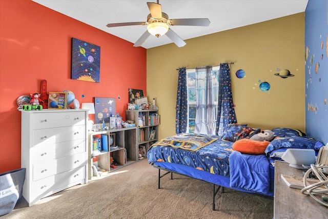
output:
[{"label": "bright red-orange wall behind the white dresser", "polygon": [[[100,46],[100,83],[71,79],[72,37]],[[0,48],[0,173],[20,168],[16,99],[40,92],[42,79],[48,92],[71,90],[80,104],[115,97],[123,120],[128,89],[146,95],[146,49],[32,1],[0,1]]]}]

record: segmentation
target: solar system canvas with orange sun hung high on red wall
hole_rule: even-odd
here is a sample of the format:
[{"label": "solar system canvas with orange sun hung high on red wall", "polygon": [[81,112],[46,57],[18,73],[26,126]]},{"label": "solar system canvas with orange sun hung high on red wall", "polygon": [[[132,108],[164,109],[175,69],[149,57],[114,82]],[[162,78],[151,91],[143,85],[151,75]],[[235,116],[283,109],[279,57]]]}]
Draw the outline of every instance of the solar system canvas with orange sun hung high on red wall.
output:
[{"label": "solar system canvas with orange sun hung high on red wall", "polygon": [[100,47],[72,38],[72,79],[100,82]]}]

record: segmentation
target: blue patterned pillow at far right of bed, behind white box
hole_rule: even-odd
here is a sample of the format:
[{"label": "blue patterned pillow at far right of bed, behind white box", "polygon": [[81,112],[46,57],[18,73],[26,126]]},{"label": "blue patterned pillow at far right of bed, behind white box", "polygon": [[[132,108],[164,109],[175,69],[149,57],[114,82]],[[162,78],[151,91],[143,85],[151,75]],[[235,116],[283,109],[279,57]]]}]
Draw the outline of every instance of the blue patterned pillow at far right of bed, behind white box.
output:
[{"label": "blue patterned pillow at far right of bed, behind white box", "polygon": [[279,137],[270,142],[264,153],[268,155],[269,152],[279,148],[305,148],[315,149],[317,141],[311,137],[301,136],[290,136],[290,137]]}]

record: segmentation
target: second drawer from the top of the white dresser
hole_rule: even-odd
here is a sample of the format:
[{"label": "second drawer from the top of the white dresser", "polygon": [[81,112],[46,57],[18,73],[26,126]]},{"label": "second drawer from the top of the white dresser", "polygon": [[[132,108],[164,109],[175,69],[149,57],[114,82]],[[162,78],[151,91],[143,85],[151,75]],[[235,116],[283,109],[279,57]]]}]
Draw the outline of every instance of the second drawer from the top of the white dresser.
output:
[{"label": "second drawer from the top of the white dresser", "polygon": [[32,134],[32,147],[47,146],[59,142],[86,139],[86,127],[84,125],[80,125],[51,129],[38,129],[33,130]]}]

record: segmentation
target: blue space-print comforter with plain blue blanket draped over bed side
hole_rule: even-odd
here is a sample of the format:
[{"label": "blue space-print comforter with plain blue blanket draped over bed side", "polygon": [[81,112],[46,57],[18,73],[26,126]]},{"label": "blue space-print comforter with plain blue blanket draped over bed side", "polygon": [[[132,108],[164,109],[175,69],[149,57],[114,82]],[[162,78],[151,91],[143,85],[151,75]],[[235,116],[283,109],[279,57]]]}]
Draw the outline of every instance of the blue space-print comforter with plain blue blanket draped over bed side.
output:
[{"label": "blue space-print comforter with plain blue blanket draped over bed side", "polygon": [[[192,137],[193,134],[190,135]],[[241,154],[232,149],[233,142],[224,141],[217,135],[212,137],[217,140],[196,151],[163,146],[158,141],[147,152],[148,162],[159,165],[164,162],[163,166],[174,163],[226,176],[230,178],[230,185],[222,186],[268,194],[270,174],[267,157]]]}]

